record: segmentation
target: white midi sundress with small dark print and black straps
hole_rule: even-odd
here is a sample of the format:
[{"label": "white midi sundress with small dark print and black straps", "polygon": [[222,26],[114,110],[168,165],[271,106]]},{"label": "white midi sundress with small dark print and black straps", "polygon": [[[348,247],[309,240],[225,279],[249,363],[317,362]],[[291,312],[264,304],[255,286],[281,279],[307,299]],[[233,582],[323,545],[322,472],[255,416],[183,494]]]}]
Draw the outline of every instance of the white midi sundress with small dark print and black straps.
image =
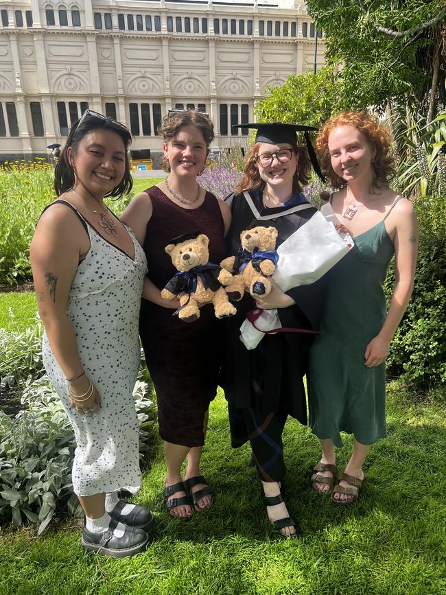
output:
[{"label": "white midi sundress with small dark print and black straps", "polygon": [[[69,203],[67,207],[75,210]],[[46,333],[43,337],[47,375],[73,424],[77,447],[72,480],[80,496],[124,487],[136,493],[141,485],[132,390],[139,369],[138,318],[147,261],[134,234],[126,229],[134,244],[134,260],[86,222],[91,248],[75,273],[67,305],[82,366],[101,395],[98,414],[85,417],[71,409],[64,374]]]}]

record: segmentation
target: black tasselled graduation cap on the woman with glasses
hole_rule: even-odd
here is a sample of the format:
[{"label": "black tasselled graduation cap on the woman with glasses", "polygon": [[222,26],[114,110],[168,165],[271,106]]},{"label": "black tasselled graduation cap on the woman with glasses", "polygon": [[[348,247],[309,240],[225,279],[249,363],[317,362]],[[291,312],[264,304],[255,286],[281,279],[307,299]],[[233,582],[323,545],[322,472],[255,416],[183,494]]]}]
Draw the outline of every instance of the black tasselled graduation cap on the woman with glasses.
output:
[{"label": "black tasselled graduation cap on the woman with glasses", "polygon": [[246,122],[246,124],[235,124],[232,128],[257,128],[255,135],[255,143],[268,143],[270,145],[277,145],[277,143],[288,143],[290,145],[296,144],[296,132],[303,132],[305,136],[305,144],[309,159],[312,162],[314,171],[318,174],[322,182],[325,182],[325,177],[320,171],[320,165],[316,152],[314,151],[312,141],[309,138],[309,132],[318,130],[315,126],[304,126],[303,124],[283,124],[282,122]]}]

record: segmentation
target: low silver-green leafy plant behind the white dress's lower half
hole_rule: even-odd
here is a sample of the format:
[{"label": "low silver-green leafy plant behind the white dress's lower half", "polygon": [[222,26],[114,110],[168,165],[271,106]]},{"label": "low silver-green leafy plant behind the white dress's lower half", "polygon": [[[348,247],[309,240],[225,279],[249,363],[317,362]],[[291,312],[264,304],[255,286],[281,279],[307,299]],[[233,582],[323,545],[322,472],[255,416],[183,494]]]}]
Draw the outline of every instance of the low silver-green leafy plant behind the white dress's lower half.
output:
[{"label": "low silver-green leafy plant behind the white dress's lower half", "polygon": [[[147,389],[139,381],[134,390],[140,453],[148,450],[149,428],[154,423]],[[83,514],[71,483],[75,441],[67,414],[46,377],[26,382],[22,405],[14,418],[0,410],[0,522],[20,526],[27,519],[39,523],[40,535],[56,510]]]}]

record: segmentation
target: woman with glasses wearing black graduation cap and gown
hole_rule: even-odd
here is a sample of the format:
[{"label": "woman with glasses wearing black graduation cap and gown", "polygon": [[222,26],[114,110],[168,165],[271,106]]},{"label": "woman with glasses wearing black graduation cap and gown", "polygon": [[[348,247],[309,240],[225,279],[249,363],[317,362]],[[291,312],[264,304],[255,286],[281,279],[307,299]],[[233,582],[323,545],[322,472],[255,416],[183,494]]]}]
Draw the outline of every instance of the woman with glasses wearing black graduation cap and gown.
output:
[{"label": "woman with glasses wearing black graduation cap and gown", "polygon": [[[280,123],[238,126],[257,128],[257,135],[242,181],[226,199],[232,212],[226,236],[230,254],[237,253],[240,232],[253,220],[259,225],[277,226],[277,245],[303,226],[316,213],[302,194],[309,179],[307,150],[320,174],[308,135],[315,128]],[[305,133],[307,149],[296,143],[299,131]],[[286,293],[273,283],[270,294],[257,299],[257,307],[277,308],[282,327],[298,332],[266,335],[253,351],[239,340],[239,327],[253,308],[248,294],[237,303],[237,315],[226,321],[227,360],[222,386],[228,400],[231,443],[239,447],[250,441],[268,517],[285,537],[296,535],[298,525],[283,501],[282,432],[288,415],[307,423],[303,376],[312,333],[318,329],[324,283],[321,279]]]}]

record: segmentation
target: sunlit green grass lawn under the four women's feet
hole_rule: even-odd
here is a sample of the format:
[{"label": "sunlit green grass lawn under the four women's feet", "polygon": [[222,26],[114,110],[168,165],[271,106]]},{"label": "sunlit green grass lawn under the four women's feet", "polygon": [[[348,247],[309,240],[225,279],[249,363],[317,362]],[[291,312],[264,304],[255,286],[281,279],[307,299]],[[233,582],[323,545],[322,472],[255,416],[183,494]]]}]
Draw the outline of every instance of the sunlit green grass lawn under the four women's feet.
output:
[{"label": "sunlit green grass lawn under the four women's feet", "polygon": [[[146,552],[113,560],[86,555],[80,522],[65,520],[36,536],[34,527],[4,528],[1,594],[439,594],[446,587],[445,419],[441,406],[415,404],[388,391],[388,437],[373,447],[355,506],[340,509],[312,490],[316,439],[296,421],[284,434],[287,503],[300,539],[276,537],[248,466],[248,447],[229,445],[223,395],[211,405],[202,472],[217,493],[208,513],[170,519],[161,491],[163,447],[135,502],[158,524]],[[339,451],[347,462],[351,440]]]}]

